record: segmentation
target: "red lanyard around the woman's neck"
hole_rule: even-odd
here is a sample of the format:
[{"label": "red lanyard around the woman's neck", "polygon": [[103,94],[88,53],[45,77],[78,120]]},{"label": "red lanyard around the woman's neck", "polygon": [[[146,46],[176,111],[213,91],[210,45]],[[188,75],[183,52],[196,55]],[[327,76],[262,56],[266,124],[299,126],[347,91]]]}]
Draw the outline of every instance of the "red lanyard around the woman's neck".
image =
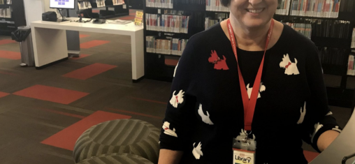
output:
[{"label": "red lanyard around the woman's neck", "polygon": [[231,26],[231,20],[227,20],[227,26],[228,26],[229,36],[231,39],[231,45],[233,47],[233,52],[234,52],[234,55],[236,56],[237,63],[238,63],[239,84],[240,84],[240,91],[242,92],[242,103],[244,106],[244,130],[245,131],[252,131],[252,121],[253,121],[253,117],[254,117],[256,99],[258,98],[258,95],[259,95],[261,75],[263,74],[263,61],[265,58],[266,50],[268,49],[268,44],[270,42],[271,35],[273,34],[274,20],[271,20],[270,29],[268,31],[268,37],[266,39],[265,50],[263,52],[263,59],[261,60],[258,74],[256,75],[256,78],[255,78],[255,82],[253,85],[253,90],[252,90],[252,95],[250,96],[250,100],[249,100],[249,96],[247,94],[247,88],[245,86],[244,79],[242,77],[242,72],[240,72],[240,68],[239,68],[236,38],[234,36],[233,27]]}]

